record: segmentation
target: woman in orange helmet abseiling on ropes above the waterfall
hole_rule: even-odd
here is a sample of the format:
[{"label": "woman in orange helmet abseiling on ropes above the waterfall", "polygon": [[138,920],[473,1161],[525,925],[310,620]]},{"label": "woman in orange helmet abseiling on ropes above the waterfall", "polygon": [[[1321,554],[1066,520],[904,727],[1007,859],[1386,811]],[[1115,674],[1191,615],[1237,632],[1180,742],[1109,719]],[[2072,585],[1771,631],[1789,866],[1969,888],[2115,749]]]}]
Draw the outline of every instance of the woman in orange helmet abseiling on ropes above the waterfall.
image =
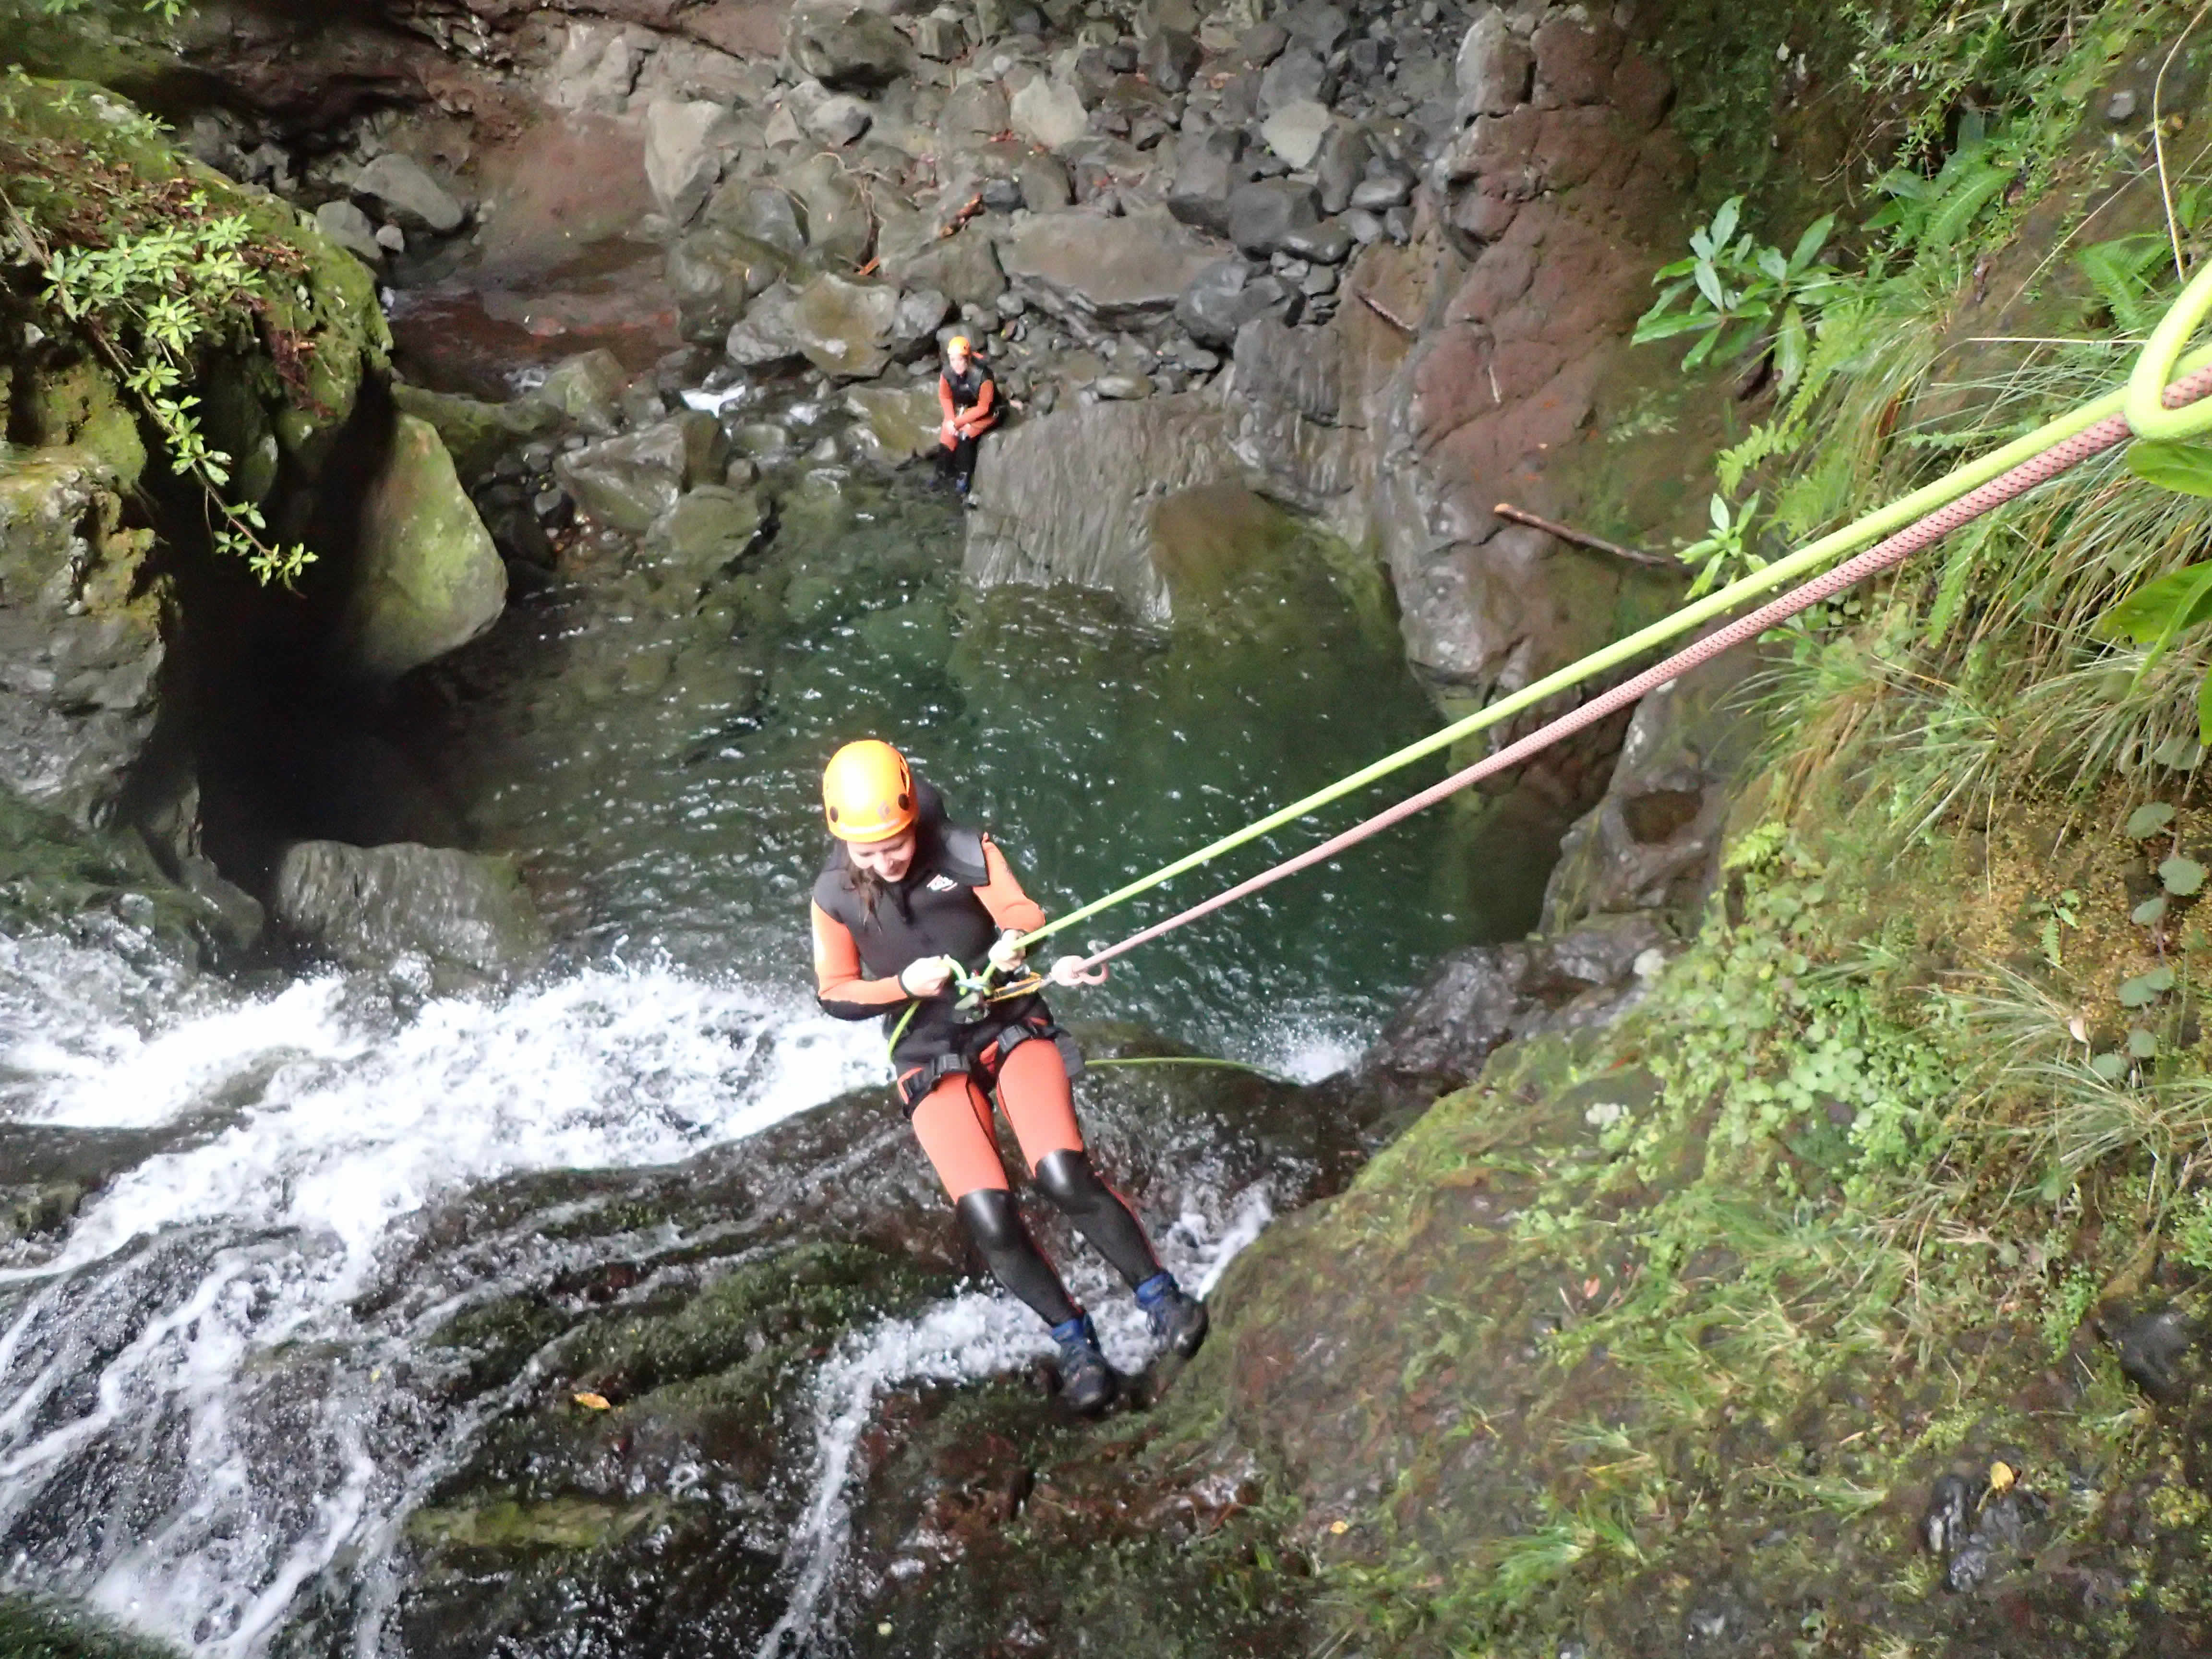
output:
[{"label": "woman in orange helmet abseiling on ropes above the waterfall", "polygon": [[[1115,1376],[1091,1318],[1037,1250],[1009,1190],[991,1097],[1031,1177],[1130,1283],[1152,1334],[1183,1358],[1206,1340],[1206,1303],[1159,1265],[1128,1201],[1091,1168],[1075,1095],[1075,1044],[1044,998],[960,1006],[953,969],[1020,967],[1020,936],[1044,927],[1006,856],[980,830],[949,823],[942,799],[889,743],[847,743],[823,772],[836,847],[814,883],[814,980],[838,1020],[880,1015],[891,1071],[922,1150],[993,1276],[1029,1303],[1060,1345],[1060,1394],[1077,1411],[1113,1398]],[[1073,984],[1082,958],[1053,964]]]}]

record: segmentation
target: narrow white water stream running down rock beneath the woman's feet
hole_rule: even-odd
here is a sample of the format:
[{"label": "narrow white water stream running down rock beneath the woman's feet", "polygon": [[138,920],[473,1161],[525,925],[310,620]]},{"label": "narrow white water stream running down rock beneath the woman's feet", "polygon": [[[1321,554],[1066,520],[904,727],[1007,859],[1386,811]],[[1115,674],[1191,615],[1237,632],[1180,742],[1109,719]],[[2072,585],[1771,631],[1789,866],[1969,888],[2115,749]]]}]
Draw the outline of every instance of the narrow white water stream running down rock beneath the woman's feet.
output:
[{"label": "narrow white water stream running down rock beneath the woman's feet", "polygon": [[[1250,1186],[1221,1203],[1221,1214],[1214,1225],[1197,1208],[1186,1210],[1159,1241],[1166,1265],[1201,1296],[1274,1219],[1274,1201],[1265,1183]],[[1152,1340],[1135,1301],[1119,1283],[1108,1287],[1095,1263],[1064,1265],[1071,1290],[1091,1305],[1106,1358],[1119,1371],[1139,1371],[1152,1356]],[[916,1318],[887,1318],[856,1332],[830,1356],[814,1383],[812,1498],[783,1555],[792,1599],[754,1659],[812,1655],[830,1639],[832,1590],[852,1544],[856,1453],[885,1389],[1002,1376],[1051,1352],[1051,1336],[1022,1303],[971,1294]]]}]

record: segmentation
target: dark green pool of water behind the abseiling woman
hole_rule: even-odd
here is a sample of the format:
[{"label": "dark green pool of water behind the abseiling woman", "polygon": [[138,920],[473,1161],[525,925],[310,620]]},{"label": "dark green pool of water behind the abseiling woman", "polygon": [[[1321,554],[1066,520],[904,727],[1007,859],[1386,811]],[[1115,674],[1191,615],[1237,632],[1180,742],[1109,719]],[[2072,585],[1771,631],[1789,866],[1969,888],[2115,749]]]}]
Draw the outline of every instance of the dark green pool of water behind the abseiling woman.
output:
[{"label": "dark green pool of water behind the abseiling woman", "polygon": [[[799,478],[776,533],[712,568],[606,549],[456,670],[467,812],[582,949],[796,991],[821,763],[885,737],[1064,911],[1438,723],[1371,571],[1285,515],[1219,529],[1183,538],[1168,626],[1075,588],[969,588],[962,515],[918,480]],[[1438,774],[1413,768],[1079,940]],[[1347,1055],[1442,951],[1533,920],[1562,825],[1462,823],[1429,814],[1146,947],[1062,1013],[1307,1068]]]}]

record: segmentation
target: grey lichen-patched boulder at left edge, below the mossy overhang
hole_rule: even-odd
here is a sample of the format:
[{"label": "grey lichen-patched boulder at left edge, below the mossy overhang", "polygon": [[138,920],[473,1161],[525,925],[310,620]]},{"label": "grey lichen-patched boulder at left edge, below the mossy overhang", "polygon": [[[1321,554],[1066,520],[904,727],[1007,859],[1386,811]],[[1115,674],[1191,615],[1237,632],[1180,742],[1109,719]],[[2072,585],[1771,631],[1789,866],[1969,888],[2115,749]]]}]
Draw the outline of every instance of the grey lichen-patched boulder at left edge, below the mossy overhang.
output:
[{"label": "grey lichen-patched boulder at left edge, below the mossy overhang", "polygon": [[113,818],[153,737],[166,659],[150,535],[82,449],[0,449],[0,785]]}]

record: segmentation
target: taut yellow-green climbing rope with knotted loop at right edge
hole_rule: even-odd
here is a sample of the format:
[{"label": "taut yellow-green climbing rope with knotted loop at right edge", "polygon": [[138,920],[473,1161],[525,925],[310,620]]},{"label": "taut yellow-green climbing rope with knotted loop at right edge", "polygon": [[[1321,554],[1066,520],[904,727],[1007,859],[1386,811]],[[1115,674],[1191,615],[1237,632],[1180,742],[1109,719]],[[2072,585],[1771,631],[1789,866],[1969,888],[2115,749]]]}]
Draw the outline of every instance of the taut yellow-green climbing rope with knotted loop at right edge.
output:
[{"label": "taut yellow-green climbing rope with knotted loop at right edge", "polygon": [[1752,599],[1761,593],[1794,582],[1801,575],[1812,573],[1816,566],[1836,560],[1838,555],[1869,546],[1882,540],[1885,535],[1905,529],[1913,520],[1933,513],[1940,507],[1949,507],[1960,495],[1980,489],[1989,480],[2008,473],[2020,462],[2031,460],[2042,451],[2066,442],[2068,438],[2077,436],[2088,427],[2095,427],[2099,420],[2108,416],[2126,414],[2135,431],[2146,438],[2150,436],[2192,438],[2197,434],[2212,431],[2212,398],[2192,403],[2185,409],[2166,409],[2161,403],[2161,394],[2166,392],[2166,385],[2174,374],[2194,374],[2197,369],[2212,365],[2212,347],[2199,347],[2197,352],[2190,352],[2185,358],[2179,356],[2181,345],[2188,341],[2190,332],[2208,312],[2212,312],[2212,265],[2201,270],[2174,301],[2172,310],[2166,314],[2166,321],[2161,321],[2159,330],[2152,334],[2150,345],[2143,347],[2143,354],[2137,361],[2135,374],[2126,387],[2108,392],[2106,396],[2095,398],[2090,403],[2084,403],[2062,414],[2057,420],[2044,422],[2026,438],[2015,438],[2002,449],[1995,449],[1982,456],[1980,460],[1971,460],[1964,467],[1958,467],[1955,471],[1947,473],[1944,478],[1938,478],[1933,484],[1922,484],[1909,495],[1900,495],[1889,507],[1867,513],[1865,518],[1845,524],[1840,531],[1823,535],[1818,542],[1812,542],[1809,546],[1803,546],[1796,553],[1776,560],[1763,571],[1754,571],[1736,582],[1730,582],[1725,588],[1708,593],[1703,599],[1694,599],[1692,604],[1686,604],[1681,611],[1661,617],[1648,628],[1641,628],[1628,635],[1626,639],[1617,639],[1615,644],[1604,646],[1601,650],[1593,650],[1588,657],[1582,657],[1579,661],[1573,661],[1566,668],[1559,668],[1557,672],[1551,672],[1544,679],[1537,679],[1535,684],[1524,686],[1517,692],[1511,692],[1509,697],[1500,697],[1495,703],[1489,703],[1482,710],[1469,714],[1467,719],[1453,721],[1451,726],[1431,732],[1418,743],[1407,743],[1402,750],[1385,754],[1380,761],[1360,768],[1347,779],[1338,779],[1325,790],[1316,790],[1314,794],[1301,801],[1292,801],[1287,807],[1279,807],[1276,812],[1270,812],[1267,816],[1248,823],[1243,830],[1234,830],[1221,836],[1219,841],[1199,847],[1197,852],[1183,854],[1175,863],[1161,865],[1152,874],[1139,876],[1126,887],[1117,887],[1104,898],[1097,898],[1079,909],[1071,909],[1066,916],[1060,916],[1040,927],[1037,931],[1026,933],[1022,938],[1022,945],[1024,947],[1035,945],[1040,940],[1051,938],[1053,933],[1075,927],[1077,922],[1091,920],[1093,916],[1108,911],[1115,905],[1124,905],[1130,898],[1137,898],[1139,894],[1159,887],[1161,883],[1175,880],[1177,876],[1197,869],[1199,865],[1212,863],[1225,852],[1234,852],[1237,847],[1259,841],[1261,836],[1272,834],[1287,823],[1296,823],[1298,818],[1318,812],[1332,801],[1340,801],[1343,796],[1356,790],[1365,790],[1369,783],[1376,783],[1378,779],[1385,779],[1391,772],[1411,765],[1413,761],[1436,754],[1438,750],[1451,748],[1453,743],[1469,739],[1475,732],[1489,730],[1500,721],[1513,719],[1522,710],[1535,708],[1537,703],[1557,697],[1559,692],[1571,690],[1582,681],[1593,679],[1595,675],[1601,675],[1610,668],[1619,668],[1621,664],[1641,657],[1650,648],[1681,633],[1688,633],[1690,628],[1697,628],[1703,622],[1712,622],[1714,617],[1721,617],[1739,608],[1745,599]]}]

